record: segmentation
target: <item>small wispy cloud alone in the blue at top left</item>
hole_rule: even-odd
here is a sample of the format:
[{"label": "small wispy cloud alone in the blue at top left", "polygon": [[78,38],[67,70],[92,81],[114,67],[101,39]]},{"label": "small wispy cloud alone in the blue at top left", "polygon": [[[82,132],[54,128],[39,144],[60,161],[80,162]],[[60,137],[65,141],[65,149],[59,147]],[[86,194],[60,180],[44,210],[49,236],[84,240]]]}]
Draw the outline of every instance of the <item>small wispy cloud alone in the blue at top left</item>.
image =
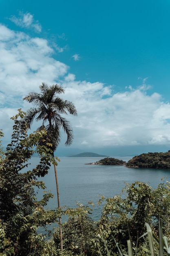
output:
[{"label": "small wispy cloud alone in the blue at top left", "polygon": [[10,20],[19,27],[31,28],[38,33],[40,33],[42,30],[40,23],[37,20],[34,20],[33,15],[31,13],[20,12],[19,18],[16,16],[11,16]]}]

